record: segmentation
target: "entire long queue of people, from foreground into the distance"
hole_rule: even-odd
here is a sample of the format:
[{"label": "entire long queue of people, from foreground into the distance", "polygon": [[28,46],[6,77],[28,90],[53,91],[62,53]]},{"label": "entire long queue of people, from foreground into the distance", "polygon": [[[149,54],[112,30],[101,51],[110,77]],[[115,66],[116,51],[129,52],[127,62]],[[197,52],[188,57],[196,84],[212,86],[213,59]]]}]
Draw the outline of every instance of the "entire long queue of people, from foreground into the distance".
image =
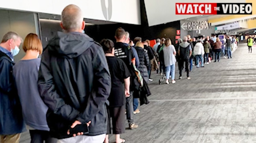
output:
[{"label": "entire long queue of people, from foreground into the distance", "polygon": [[[197,68],[204,67],[213,53],[215,62],[220,62],[222,52],[216,36],[195,39],[188,35],[176,45],[170,38],[161,38],[150,47],[149,40],[131,40],[121,27],[114,35],[116,42],[97,43],[84,33],[77,5],[64,8],[60,26],[64,32],[58,32],[44,49],[34,33],[24,42],[15,32],[4,35],[0,43],[0,143],[19,143],[26,130],[31,143],[109,143],[111,133],[116,143],[124,143],[125,129],[139,127],[135,120],[139,103],[149,103],[152,71],[166,76],[167,84],[175,84],[178,62],[179,79],[185,64],[191,80],[193,60]],[[15,64],[13,56],[21,43],[26,54]],[[231,43],[228,37],[229,58]]]}]

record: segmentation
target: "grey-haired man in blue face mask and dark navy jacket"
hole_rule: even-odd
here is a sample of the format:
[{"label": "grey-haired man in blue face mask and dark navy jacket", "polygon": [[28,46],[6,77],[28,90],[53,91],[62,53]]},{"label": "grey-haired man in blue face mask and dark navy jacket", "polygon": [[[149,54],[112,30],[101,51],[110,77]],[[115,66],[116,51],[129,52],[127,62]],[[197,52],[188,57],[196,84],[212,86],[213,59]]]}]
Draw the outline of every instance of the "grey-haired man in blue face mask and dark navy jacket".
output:
[{"label": "grey-haired man in blue face mask and dark navy jacket", "polygon": [[21,105],[12,76],[13,56],[19,53],[22,38],[8,32],[0,43],[0,143],[19,143],[25,131]]}]

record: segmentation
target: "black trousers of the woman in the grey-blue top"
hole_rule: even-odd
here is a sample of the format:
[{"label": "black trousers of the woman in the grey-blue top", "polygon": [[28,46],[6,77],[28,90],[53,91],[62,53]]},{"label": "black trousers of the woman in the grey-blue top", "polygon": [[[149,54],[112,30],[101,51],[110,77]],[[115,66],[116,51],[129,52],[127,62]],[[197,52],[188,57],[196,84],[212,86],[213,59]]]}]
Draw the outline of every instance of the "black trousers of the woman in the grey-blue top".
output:
[{"label": "black trousers of the woman in the grey-blue top", "polygon": [[49,131],[46,130],[29,130],[30,143],[57,143],[58,139],[50,137]]}]

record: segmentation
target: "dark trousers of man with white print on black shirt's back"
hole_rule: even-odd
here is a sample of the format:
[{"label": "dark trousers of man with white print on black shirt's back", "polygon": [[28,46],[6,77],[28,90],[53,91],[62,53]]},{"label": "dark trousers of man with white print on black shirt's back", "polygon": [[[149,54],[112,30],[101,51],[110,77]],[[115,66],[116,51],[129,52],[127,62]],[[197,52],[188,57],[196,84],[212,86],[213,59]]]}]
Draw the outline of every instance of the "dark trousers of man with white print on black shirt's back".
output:
[{"label": "dark trousers of man with white print on black shirt's back", "polygon": [[130,92],[130,96],[126,98],[126,118],[129,125],[134,123],[133,120],[133,91]]}]

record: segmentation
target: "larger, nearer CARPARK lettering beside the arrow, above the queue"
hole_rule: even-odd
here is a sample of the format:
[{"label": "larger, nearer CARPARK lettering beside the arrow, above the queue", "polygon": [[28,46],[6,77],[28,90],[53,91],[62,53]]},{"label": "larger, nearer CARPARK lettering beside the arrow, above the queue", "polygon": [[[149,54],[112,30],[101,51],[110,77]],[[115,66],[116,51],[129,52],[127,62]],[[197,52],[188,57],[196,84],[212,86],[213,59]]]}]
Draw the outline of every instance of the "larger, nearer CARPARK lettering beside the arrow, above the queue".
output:
[{"label": "larger, nearer CARPARK lettering beside the arrow, above the queue", "polygon": [[211,29],[211,24],[208,21],[196,21],[196,22],[188,22],[187,23],[188,30],[204,30]]}]

